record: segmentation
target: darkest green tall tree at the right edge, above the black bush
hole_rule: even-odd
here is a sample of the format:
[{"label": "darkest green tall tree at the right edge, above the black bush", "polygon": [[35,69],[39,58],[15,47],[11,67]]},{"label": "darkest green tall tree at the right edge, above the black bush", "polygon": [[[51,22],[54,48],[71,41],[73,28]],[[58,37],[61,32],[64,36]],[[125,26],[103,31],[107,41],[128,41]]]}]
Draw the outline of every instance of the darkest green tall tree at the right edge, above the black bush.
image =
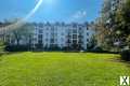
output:
[{"label": "darkest green tall tree at the right edge, above the black bush", "polygon": [[130,46],[129,37],[130,37],[130,0],[126,0],[122,8],[119,8],[115,12],[114,16],[114,30],[113,38],[118,40],[119,47]]}]

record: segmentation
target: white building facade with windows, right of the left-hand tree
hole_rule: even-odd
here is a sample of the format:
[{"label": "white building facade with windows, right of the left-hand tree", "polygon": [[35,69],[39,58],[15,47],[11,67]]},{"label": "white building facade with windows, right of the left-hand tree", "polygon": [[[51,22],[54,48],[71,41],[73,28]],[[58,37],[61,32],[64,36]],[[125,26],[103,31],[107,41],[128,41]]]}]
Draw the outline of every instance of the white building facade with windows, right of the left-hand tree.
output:
[{"label": "white building facade with windows, right of the left-hand tree", "polygon": [[86,24],[40,24],[35,25],[32,47],[81,47],[87,45],[94,33],[91,26]]}]

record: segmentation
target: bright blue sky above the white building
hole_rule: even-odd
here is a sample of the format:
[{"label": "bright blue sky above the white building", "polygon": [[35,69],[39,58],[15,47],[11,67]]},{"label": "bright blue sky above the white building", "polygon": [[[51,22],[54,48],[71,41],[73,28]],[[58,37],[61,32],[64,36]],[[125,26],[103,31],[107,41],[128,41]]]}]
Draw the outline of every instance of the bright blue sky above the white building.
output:
[{"label": "bright blue sky above the white building", "polygon": [[[0,20],[24,18],[39,0],[0,0]],[[103,0],[42,0],[28,22],[92,22],[99,15]]]}]

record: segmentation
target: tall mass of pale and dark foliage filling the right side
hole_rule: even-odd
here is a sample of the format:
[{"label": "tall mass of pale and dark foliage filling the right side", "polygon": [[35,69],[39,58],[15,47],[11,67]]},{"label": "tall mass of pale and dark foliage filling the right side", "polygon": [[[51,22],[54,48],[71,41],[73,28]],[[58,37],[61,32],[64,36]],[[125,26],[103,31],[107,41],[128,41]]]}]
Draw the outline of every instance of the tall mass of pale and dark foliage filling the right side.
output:
[{"label": "tall mass of pale and dark foliage filling the right side", "polygon": [[[116,4],[115,10],[112,8],[113,0],[104,0],[101,20],[98,23],[99,34],[102,38],[102,46],[107,51],[120,48],[127,45],[127,38],[130,34],[130,0],[120,0],[122,4]],[[125,1],[127,1],[125,3]],[[118,44],[118,45],[117,45]]]}]

